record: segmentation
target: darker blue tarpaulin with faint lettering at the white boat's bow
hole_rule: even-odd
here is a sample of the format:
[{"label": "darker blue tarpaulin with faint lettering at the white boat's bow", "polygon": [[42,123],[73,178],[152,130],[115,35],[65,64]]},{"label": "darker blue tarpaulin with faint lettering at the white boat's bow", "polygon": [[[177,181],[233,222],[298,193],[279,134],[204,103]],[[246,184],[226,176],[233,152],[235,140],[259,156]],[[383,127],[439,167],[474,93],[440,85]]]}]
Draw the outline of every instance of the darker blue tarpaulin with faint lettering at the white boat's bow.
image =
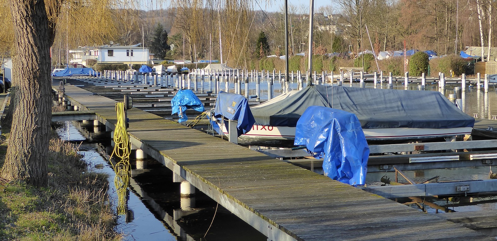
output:
[{"label": "darker blue tarpaulin with faint lettering at the white boat's bow", "polygon": [[[238,136],[247,133],[255,123],[252,112],[248,108],[247,98],[240,94],[224,91],[219,91],[218,93],[216,106],[214,107],[214,117],[219,121],[223,120],[223,117],[228,120],[237,120]],[[225,126],[228,126],[227,121],[225,121]],[[221,134],[219,128],[216,131]]]}]

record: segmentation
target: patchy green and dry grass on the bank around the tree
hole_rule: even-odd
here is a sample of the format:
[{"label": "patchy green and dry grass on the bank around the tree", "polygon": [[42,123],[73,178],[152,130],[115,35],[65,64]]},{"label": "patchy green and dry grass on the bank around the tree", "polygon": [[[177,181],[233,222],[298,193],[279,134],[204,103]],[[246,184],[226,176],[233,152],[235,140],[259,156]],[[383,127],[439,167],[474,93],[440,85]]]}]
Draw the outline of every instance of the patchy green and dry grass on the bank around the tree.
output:
[{"label": "patchy green and dry grass on the bank around the tree", "polygon": [[[0,139],[0,166],[8,134]],[[50,141],[49,186],[0,179],[0,241],[117,241],[107,174],[88,171],[77,147],[54,135]]]}]

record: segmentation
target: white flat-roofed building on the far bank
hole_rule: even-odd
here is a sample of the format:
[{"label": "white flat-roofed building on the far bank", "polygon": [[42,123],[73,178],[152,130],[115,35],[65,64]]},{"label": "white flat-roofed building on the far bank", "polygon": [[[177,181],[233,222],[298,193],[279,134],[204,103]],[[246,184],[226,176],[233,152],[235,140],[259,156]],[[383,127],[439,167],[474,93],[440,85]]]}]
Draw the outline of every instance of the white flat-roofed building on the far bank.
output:
[{"label": "white flat-roofed building on the far bank", "polygon": [[70,50],[72,64],[86,66],[87,60],[93,59],[97,63],[148,64],[150,61],[149,48],[139,47],[140,44],[120,46],[104,45],[98,47],[81,47]]}]

